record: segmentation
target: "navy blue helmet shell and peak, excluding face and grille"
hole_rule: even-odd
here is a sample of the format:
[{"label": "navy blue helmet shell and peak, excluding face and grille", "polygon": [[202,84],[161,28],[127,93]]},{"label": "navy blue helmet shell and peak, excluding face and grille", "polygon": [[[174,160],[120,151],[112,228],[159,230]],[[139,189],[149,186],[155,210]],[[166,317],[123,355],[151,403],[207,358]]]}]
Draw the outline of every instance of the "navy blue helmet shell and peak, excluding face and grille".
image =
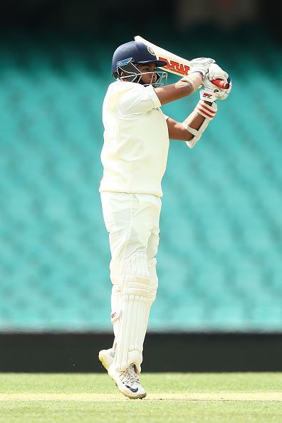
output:
[{"label": "navy blue helmet shell and peak, excluding face and grille", "polygon": [[119,66],[127,63],[133,63],[134,65],[155,63],[158,67],[167,65],[166,61],[157,60],[152,48],[141,41],[129,41],[117,47],[113,54],[112,75],[117,78]]}]

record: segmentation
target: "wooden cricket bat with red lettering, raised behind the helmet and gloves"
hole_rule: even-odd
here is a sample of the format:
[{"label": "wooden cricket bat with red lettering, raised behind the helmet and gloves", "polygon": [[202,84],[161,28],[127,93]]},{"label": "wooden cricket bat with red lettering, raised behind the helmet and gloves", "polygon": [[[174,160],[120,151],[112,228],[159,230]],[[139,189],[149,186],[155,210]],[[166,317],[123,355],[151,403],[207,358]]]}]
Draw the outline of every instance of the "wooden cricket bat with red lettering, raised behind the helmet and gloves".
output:
[{"label": "wooden cricket bat with red lettering, raised behind the helmet and gloves", "polygon": [[[180,76],[188,75],[190,62],[187,61],[187,59],[177,56],[170,51],[164,50],[164,48],[155,46],[155,44],[150,43],[150,41],[145,40],[145,38],[142,38],[141,36],[135,36],[134,39],[135,41],[141,41],[142,43],[146,44],[146,46],[152,48],[152,51],[155,53],[155,56],[157,56],[158,60],[167,62],[167,65],[162,66],[161,69]],[[219,88],[229,88],[229,83],[222,79],[214,79],[211,82]]]}]

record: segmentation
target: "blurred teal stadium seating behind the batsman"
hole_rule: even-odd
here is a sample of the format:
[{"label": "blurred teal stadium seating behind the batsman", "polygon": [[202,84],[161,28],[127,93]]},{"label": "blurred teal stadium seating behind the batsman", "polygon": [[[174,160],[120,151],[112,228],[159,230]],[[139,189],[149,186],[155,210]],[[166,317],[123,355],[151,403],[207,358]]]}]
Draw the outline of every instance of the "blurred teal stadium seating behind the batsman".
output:
[{"label": "blurred teal stadium seating behind the batsman", "polygon": [[[171,142],[150,330],[281,330],[282,55],[263,40],[266,70],[259,49],[218,51],[230,98],[193,150]],[[98,187],[110,75],[83,41],[7,38],[0,52],[0,330],[109,330]],[[164,113],[183,119],[196,102]]]}]

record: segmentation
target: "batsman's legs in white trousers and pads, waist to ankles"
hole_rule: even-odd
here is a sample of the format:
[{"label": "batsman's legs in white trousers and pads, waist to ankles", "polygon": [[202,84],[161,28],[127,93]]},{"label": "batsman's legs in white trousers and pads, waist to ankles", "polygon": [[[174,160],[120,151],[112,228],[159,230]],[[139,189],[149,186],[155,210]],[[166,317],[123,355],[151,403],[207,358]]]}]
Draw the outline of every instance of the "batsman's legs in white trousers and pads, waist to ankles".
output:
[{"label": "batsman's legs in white trousers and pads, waist to ankles", "polygon": [[162,201],[152,194],[101,192],[101,202],[111,253],[114,365],[122,371],[133,363],[140,373],[150,306],[157,293]]}]

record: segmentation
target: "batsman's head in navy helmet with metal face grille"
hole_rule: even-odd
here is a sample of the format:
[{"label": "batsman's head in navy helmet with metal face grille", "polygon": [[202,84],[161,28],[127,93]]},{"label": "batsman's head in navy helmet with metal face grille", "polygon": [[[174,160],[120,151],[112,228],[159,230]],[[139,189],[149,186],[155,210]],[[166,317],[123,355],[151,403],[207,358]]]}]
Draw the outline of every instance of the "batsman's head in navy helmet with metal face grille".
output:
[{"label": "batsman's head in navy helmet with metal face grille", "polygon": [[120,80],[157,88],[167,82],[167,72],[156,72],[155,68],[166,65],[167,62],[158,60],[149,46],[140,41],[129,41],[115,50],[112,75]]}]

